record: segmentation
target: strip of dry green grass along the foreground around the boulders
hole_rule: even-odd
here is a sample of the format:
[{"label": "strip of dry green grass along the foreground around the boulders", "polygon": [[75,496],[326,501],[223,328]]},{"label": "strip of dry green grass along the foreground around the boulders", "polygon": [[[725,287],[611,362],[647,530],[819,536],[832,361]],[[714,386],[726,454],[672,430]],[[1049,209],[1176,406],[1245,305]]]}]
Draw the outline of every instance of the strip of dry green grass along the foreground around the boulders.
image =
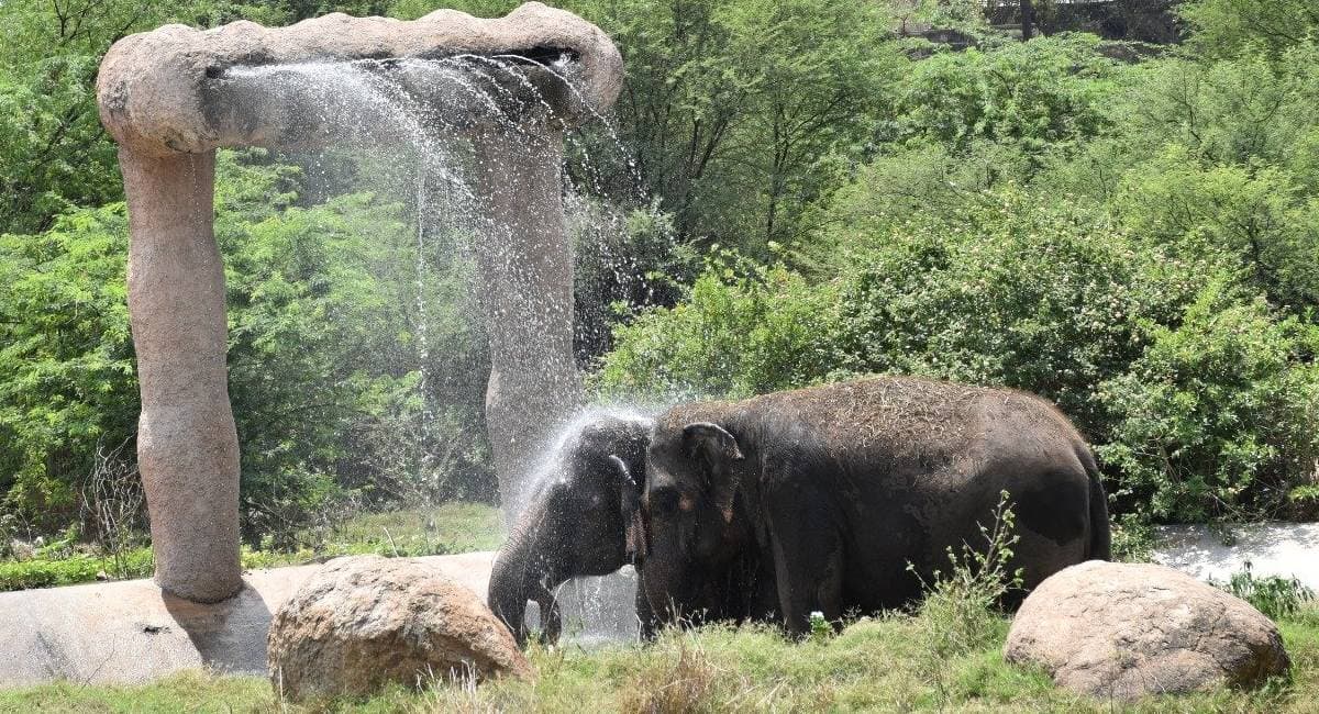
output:
[{"label": "strip of dry green grass along the foreground around the boulders", "polygon": [[1008,665],[1006,620],[981,647],[930,651],[923,617],[863,619],[838,636],[793,643],[766,627],[669,632],[653,645],[533,649],[534,682],[437,682],[364,702],[281,702],[255,677],[181,674],[149,686],[55,684],[0,692],[0,711],[1319,711],[1319,613],[1281,623],[1291,677],[1253,692],[1158,697],[1134,706],[1055,689],[1038,671]]}]

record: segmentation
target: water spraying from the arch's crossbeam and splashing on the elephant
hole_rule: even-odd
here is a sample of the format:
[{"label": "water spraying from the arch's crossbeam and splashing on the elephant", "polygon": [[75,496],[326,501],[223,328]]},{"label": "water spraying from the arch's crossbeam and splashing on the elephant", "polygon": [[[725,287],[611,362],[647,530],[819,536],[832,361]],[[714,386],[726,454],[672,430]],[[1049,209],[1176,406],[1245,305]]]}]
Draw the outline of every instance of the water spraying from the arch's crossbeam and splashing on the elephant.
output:
[{"label": "water spraying from the arch's crossbeam and splashing on the elephant", "polygon": [[[513,150],[524,151],[522,157],[505,157],[510,166],[518,158],[536,158],[533,151],[537,141],[533,132],[537,123],[553,121],[554,111],[546,91],[567,91],[605,126],[607,136],[624,157],[628,182],[634,196],[627,202],[644,203],[641,183],[637,178],[636,162],[625,150],[613,126],[596,112],[582,95],[572,80],[572,70],[567,62],[543,63],[517,55],[483,57],[459,54],[438,59],[388,59],[356,62],[309,62],[295,65],[274,65],[261,67],[231,67],[220,82],[223,91],[243,94],[245,105],[259,107],[259,112],[270,116],[297,113],[303,121],[299,125],[305,137],[272,137],[272,144],[297,146],[305,141],[309,146],[328,144],[327,136],[336,134],[339,144],[356,148],[359,151],[372,151],[381,146],[404,146],[405,153],[415,153],[415,161],[398,161],[393,171],[397,175],[383,177],[390,180],[413,180],[410,192],[415,203],[415,241],[412,256],[412,273],[415,281],[415,361],[418,365],[417,390],[421,398],[418,431],[417,474],[419,483],[431,482],[431,470],[437,465],[433,449],[434,422],[437,420],[435,389],[438,378],[434,373],[434,315],[427,304],[427,283],[435,277],[430,261],[435,254],[434,244],[439,236],[458,237],[454,250],[472,250],[472,234],[504,236],[510,231],[506,225],[493,225],[480,209],[476,171],[480,169],[471,144],[463,138],[464,132],[474,125],[491,124],[510,136],[526,137],[528,141]],[[303,97],[314,97],[306,100]],[[270,97],[270,99],[264,99]],[[264,101],[264,104],[262,104]],[[532,117],[528,120],[526,117]],[[290,125],[286,121],[264,121],[262,125]],[[604,192],[604,182],[599,167],[591,161],[584,141],[568,134],[568,141],[576,142],[576,149],[584,162],[588,188],[596,195]],[[396,149],[397,150],[397,149]],[[379,158],[379,157],[376,157]],[[410,170],[409,167],[415,167]],[[410,179],[406,177],[410,175]],[[567,177],[568,171],[563,171]],[[385,188],[389,191],[389,188]],[[572,186],[565,186],[568,209],[580,208],[578,221],[590,221],[599,216],[588,212],[590,207],[580,200],[580,192]],[[594,238],[601,232],[624,229],[621,213],[611,213],[600,225],[591,225],[582,233]],[[463,242],[466,238],[466,242]],[[503,246],[503,240],[488,240],[491,245]],[[516,256],[501,254],[509,273],[516,274]],[[620,267],[620,265],[623,267]],[[613,270],[627,271],[627,262],[613,263]],[[616,275],[619,282],[641,279],[637,275]],[[491,286],[497,290],[497,287]],[[481,299],[489,299],[481,295]],[[546,306],[549,308],[549,306]],[[497,319],[497,317],[496,317]],[[547,389],[550,389],[547,386]],[[633,415],[636,416],[636,415]],[[578,419],[561,429],[554,444],[542,457],[534,470],[534,477],[525,486],[529,493],[541,486],[555,472],[551,464],[555,449],[586,422]],[[481,428],[468,424],[468,428]],[[609,578],[587,578],[590,582],[570,582],[563,588],[565,615],[568,627],[565,632],[587,640],[616,639],[627,632],[632,615],[632,593],[634,577],[612,576]],[[620,614],[621,613],[621,614]],[[574,627],[571,623],[576,622]],[[620,626],[621,622],[621,626]],[[621,630],[620,630],[621,627]]]}]

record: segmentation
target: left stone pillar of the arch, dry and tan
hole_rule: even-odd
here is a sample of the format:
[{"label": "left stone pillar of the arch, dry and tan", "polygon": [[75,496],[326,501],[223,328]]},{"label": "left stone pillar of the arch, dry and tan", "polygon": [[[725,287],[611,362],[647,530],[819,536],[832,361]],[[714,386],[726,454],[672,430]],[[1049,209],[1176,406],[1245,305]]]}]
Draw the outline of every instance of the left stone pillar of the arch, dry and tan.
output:
[{"label": "left stone pillar of the arch, dry and tan", "polygon": [[224,266],[212,229],[215,151],[120,148],[132,233],[128,310],[142,412],[137,460],[156,581],[218,602],[243,586],[239,440],[226,371]]}]

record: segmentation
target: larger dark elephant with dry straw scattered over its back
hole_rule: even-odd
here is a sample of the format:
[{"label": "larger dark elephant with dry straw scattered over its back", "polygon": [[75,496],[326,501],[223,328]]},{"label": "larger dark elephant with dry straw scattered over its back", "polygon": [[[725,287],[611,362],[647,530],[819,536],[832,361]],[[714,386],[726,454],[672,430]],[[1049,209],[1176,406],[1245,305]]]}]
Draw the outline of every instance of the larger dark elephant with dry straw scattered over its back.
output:
[{"label": "larger dark elephant with dry straw scattered over its back", "polygon": [[[948,549],[984,551],[1000,494],[1016,516],[1024,597],[1111,557],[1089,448],[1026,393],[872,377],[682,404],[646,449],[641,528],[656,623],[714,617],[838,623],[919,601]],[[1010,607],[1010,603],[1005,603]]]}]

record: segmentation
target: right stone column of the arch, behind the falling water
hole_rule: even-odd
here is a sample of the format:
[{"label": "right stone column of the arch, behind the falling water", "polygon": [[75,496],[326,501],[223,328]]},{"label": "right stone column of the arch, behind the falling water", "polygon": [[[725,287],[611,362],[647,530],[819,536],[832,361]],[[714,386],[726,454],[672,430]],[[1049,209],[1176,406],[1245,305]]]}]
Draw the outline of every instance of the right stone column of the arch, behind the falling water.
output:
[{"label": "right stone column of the arch, behind the falling water", "polygon": [[512,519],[529,472],[582,403],[572,357],[572,253],[563,224],[563,136],[543,124],[476,133],[488,225],[476,250],[491,343],[485,423]]}]

